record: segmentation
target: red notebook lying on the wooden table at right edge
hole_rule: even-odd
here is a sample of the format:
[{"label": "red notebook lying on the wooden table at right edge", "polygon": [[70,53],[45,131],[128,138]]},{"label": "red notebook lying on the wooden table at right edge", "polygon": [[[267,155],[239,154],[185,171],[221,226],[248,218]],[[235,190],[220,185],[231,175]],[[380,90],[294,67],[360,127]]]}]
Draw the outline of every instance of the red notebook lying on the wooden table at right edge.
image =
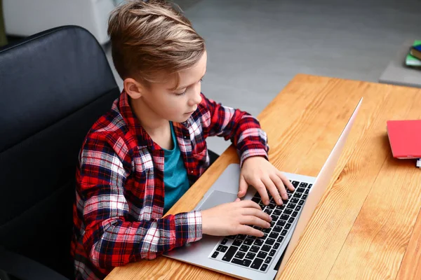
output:
[{"label": "red notebook lying on the wooden table at right edge", "polygon": [[421,120],[389,120],[387,134],[394,158],[421,158]]}]

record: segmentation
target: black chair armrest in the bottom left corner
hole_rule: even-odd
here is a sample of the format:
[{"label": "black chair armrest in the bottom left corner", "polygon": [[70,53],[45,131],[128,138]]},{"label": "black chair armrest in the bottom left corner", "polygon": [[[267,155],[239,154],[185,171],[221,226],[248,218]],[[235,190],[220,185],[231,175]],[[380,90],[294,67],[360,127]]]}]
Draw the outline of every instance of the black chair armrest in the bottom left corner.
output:
[{"label": "black chair armrest in the bottom left corner", "polygon": [[0,270],[22,280],[69,280],[53,269],[0,247]]}]

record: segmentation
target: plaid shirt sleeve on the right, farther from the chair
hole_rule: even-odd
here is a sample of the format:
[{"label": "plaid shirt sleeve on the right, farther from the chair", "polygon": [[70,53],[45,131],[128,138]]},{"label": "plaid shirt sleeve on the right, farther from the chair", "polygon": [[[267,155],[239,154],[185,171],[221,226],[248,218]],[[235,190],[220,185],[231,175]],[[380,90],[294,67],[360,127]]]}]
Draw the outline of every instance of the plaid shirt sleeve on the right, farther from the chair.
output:
[{"label": "plaid shirt sleeve on the right, farther from the chair", "polygon": [[217,104],[201,94],[203,131],[207,136],[231,139],[240,155],[240,165],[247,158],[259,155],[268,159],[267,134],[259,121],[249,113]]}]

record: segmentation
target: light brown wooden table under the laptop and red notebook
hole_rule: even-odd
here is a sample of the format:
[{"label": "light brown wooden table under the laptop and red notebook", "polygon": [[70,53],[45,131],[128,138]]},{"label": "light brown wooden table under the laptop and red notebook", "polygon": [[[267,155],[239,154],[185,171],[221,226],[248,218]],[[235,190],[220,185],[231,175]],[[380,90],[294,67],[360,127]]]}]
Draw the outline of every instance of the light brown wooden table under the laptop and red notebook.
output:
[{"label": "light brown wooden table under the laptop and red notebook", "polygon": [[[421,170],[395,160],[386,121],[421,118],[421,90],[298,75],[258,116],[270,161],[316,176],[359,99],[363,104],[330,186],[277,279],[421,279]],[[171,213],[193,209],[231,162],[233,147]],[[107,279],[231,279],[159,257],[117,267]]]}]

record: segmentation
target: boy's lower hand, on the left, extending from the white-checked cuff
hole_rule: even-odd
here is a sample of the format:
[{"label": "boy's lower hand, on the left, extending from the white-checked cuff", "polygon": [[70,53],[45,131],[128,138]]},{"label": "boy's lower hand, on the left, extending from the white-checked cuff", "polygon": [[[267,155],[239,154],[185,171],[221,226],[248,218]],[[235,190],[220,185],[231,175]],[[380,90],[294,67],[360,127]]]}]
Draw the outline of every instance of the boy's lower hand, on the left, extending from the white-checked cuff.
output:
[{"label": "boy's lower hand, on the left, extending from the white-checked cuff", "polygon": [[272,218],[251,200],[225,203],[202,210],[202,232],[205,235],[253,235],[262,237],[263,232],[252,228],[269,228]]}]

